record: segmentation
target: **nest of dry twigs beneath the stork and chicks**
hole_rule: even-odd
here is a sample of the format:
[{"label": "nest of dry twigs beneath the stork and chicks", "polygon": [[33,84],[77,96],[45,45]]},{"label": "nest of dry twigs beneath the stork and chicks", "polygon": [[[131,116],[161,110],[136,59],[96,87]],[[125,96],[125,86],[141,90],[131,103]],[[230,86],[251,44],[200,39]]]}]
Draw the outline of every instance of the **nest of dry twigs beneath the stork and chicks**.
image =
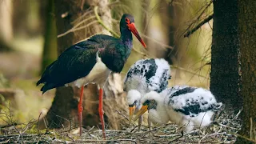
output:
[{"label": "nest of dry twigs beneath the stork and chicks", "polygon": [[[102,130],[96,126],[83,130],[82,138],[78,128],[69,130],[37,130],[37,122],[28,122],[18,126],[1,127],[0,142],[4,143],[234,143],[240,130],[238,114],[227,114],[222,111],[214,123],[202,130],[194,130],[181,136],[181,130],[174,123],[164,126],[122,125],[122,130],[106,130],[106,139],[102,139]],[[122,114],[124,118],[126,116]],[[136,131],[137,130],[137,131]]]}]

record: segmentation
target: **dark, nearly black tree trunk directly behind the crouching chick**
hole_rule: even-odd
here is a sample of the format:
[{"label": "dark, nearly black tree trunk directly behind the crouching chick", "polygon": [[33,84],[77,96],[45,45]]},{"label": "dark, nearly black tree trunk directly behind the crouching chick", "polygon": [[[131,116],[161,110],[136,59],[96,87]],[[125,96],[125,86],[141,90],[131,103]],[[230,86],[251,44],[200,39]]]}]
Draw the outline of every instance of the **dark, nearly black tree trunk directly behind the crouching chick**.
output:
[{"label": "dark, nearly black tree trunk directly behind the crouching chick", "polygon": [[236,110],[242,106],[239,90],[238,2],[214,1],[210,90]]}]

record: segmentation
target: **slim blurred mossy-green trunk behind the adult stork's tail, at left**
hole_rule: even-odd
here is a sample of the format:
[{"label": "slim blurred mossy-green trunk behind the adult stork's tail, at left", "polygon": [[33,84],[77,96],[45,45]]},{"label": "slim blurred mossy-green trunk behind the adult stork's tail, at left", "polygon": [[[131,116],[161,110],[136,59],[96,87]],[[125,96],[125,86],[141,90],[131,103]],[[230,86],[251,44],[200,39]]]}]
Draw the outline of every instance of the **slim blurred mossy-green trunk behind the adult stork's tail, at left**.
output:
[{"label": "slim blurred mossy-green trunk behind the adult stork's tail, at left", "polygon": [[42,72],[46,69],[46,66],[50,65],[57,58],[57,30],[54,14],[54,1],[48,0],[45,43],[42,53]]}]

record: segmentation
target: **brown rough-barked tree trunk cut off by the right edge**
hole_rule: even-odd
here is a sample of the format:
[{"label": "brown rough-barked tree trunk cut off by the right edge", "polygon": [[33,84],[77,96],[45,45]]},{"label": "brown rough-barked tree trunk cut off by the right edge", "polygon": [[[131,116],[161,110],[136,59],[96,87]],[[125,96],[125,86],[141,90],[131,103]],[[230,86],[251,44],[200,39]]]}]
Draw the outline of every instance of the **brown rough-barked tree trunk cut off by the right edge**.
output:
[{"label": "brown rough-barked tree trunk cut off by the right edge", "polygon": [[242,130],[245,138],[254,142],[239,138],[236,143],[256,142],[256,1],[238,0],[238,32],[241,50],[242,71]]}]

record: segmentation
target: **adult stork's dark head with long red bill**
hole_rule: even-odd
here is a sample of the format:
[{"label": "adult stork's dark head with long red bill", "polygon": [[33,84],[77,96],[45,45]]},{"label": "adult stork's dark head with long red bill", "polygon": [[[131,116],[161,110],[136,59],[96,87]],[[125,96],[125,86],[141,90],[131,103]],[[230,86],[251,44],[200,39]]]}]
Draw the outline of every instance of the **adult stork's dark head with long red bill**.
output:
[{"label": "adult stork's dark head with long red bill", "polygon": [[145,42],[142,40],[141,36],[138,34],[138,30],[135,27],[134,24],[134,16],[130,14],[123,14],[121,21],[120,21],[120,31],[121,34],[125,34],[125,31],[131,31],[136,38],[138,38],[138,41],[142,43],[142,46],[146,48]]}]

